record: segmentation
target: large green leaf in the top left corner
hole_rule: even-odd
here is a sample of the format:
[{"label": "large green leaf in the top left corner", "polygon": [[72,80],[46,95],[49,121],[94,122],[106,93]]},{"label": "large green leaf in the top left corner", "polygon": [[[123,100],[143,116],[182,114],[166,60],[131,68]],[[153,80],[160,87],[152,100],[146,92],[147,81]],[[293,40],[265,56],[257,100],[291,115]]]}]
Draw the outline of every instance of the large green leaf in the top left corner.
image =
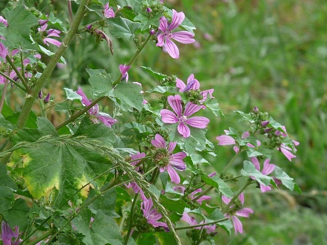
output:
[{"label": "large green leaf in the top left corner", "polygon": [[[19,5],[10,12],[5,13],[8,27],[1,27],[4,45],[9,49],[32,49],[38,50],[38,45],[33,44],[29,37],[29,30],[32,25],[37,24],[37,19],[25,6]],[[3,35],[4,34],[4,35]]]}]

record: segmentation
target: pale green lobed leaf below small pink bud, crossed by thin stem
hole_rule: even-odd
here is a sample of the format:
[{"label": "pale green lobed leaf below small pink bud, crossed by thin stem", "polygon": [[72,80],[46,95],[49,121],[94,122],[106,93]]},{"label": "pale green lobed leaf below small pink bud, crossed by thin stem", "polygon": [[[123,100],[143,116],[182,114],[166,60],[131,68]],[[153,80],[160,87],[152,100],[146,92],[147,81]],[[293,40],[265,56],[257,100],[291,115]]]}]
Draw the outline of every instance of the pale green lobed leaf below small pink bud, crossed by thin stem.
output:
[{"label": "pale green lobed leaf below small pink bud, crossed by thin stem", "polygon": [[121,106],[124,111],[130,108],[136,108],[141,111],[143,107],[143,96],[141,94],[141,86],[132,82],[121,82],[116,87],[112,85],[109,74],[104,70],[86,69],[89,73],[89,83],[96,96],[107,96],[111,98],[117,106]]}]

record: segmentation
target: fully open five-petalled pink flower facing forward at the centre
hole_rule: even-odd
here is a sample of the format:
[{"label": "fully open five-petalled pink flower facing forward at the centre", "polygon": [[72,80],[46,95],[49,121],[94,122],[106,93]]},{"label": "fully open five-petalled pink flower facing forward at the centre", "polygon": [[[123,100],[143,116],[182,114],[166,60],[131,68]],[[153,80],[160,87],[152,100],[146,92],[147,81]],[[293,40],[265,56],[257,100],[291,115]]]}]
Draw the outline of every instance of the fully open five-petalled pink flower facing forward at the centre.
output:
[{"label": "fully open five-petalled pink flower facing forward at the centre", "polygon": [[173,108],[176,115],[169,110],[162,109],[160,111],[162,122],[178,123],[177,130],[184,138],[190,137],[191,135],[191,131],[186,124],[192,127],[205,128],[210,122],[210,120],[205,117],[193,117],[188,119],[187,117],[196,113],[202,107],[188,102],[185,106],[184,113],[182,113],[182,99],[179,95],[168,96],[168,103]]}]

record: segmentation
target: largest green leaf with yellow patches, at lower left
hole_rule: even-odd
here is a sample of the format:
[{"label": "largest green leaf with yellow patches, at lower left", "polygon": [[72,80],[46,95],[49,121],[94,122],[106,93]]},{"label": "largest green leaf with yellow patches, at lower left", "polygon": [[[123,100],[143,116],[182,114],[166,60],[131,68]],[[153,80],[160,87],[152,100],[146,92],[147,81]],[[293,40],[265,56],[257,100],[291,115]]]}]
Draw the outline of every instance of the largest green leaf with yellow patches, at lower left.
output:
[{"label": "largest green leaf with yellow patches, at lower left", "polygon": [[[38,129],[19,130],[14,136],[14,142],[35,142],[47,133],[56,137],[53,125],[47,119],[39,118],[38,126]],[[88,132],[89,136],[103,140],[106,134],[110,135],[104,131],[103,126],[95,124],[92,127],[94,131]],[[96,127],[99,128],[99,133]],[[108,127],[106,129],[111,130]],[[111,164],[107,158],[89,148],[76,146],[76,143],[75,141],[73,146],[67,143],[42,143],[40,147],[21,148],[16,151],[23,158],[23,178],[33,197],[47,197],[55,189],[56,197],[53,199],[56,204],[67,204],[68,198],[81,186],[109,168]],[[106,176],[102,176],[97,179],[97,183],[102,184],[105,178]],[[85,198],[89,188],[90,186],[87,186],[76,196]]]}]

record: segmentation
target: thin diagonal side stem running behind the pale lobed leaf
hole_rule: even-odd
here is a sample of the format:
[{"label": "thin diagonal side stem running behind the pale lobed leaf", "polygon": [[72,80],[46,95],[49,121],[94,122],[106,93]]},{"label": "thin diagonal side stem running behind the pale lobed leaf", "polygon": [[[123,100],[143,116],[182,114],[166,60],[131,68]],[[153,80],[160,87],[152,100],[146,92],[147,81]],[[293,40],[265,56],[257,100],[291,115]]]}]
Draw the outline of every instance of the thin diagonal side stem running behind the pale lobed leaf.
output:
[{"label": "thin diagonal side stem running behind the pale lobed leaf", "polygon": [[[128,66],[130,66],[134,60],[137,58],[137,56],[140,54],[140,52],[142,51],[142,49],[144,49],[144,47],[146,46],[146,44],[149,42],[151,35],[148,36],[148,38],[144,41],[144,43],[142,44],[142,46],[134,53],[133,57],[129,60],[129,62],[127,63]],[[113,82],[113,86],[116,86],[118,83],[121,82],[122,79],[122,75],[120,75],[116,81]],[[67,119],[65,122],[60,123],[59,125],[57,125],[55,127],[55,129],[60,129],[63,126],[67,125],[68,123],[71,123],[73,121],[75,121],[75,119],[77,119],[78,117],[80,117],[81,115],[83,115],[85,112],[87,112],[91,107],[93,107],[95,104],[97,104],[98,102],[100,102],[103,98],[105,98],[105,96],[99,97],[96,100],[94,100],[89,106],[84,107],[84,109],[80,110],[79,112],[77,112],[74,116],[70,117],[69,119]]]}]

